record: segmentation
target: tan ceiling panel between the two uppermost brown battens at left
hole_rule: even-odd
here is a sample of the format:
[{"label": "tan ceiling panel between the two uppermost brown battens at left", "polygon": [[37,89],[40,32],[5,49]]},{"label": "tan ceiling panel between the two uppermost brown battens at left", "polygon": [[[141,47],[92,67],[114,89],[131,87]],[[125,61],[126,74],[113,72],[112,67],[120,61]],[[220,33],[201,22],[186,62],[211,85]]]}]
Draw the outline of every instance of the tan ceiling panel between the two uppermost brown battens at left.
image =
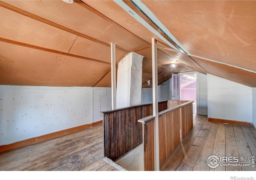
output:
[{"label": "tan ceiling panel between the two uppermost brown battens at left", "polygon": [[107,44],[114,42],[128,51],[147,45],[78,3],[68,4],[60,0],[5,2]]}]

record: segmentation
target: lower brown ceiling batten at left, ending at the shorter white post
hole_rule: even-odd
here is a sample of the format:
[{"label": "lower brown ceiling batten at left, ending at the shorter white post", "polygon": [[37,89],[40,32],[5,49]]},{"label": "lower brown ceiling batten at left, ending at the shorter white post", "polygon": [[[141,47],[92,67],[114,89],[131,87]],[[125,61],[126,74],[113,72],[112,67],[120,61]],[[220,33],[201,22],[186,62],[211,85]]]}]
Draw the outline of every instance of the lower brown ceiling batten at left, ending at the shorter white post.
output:
[{"label": "lower brown ceiling batten at left, ending at the shorter white post", "polygon": [[18,46],[24,46],[24,47],[32,48],[32,49],[36,49],[36,50],[52,52],[52,53],[55,53],[55,54],[62,54],[62,55],[65,55],[65,56],[70,56],[70,57],[74,57],[74,58],[79,58],[79,59],[84,59],[84,60],[88,60],[88,61],[98,62],[98,63],[101,63],[101,64],[110,65],[109,62],[105,62],[105,61],[101,61],[101,60],[97,60],[97,59],[93,59],[93,58],[88,58],[88,57],[84,57],[84,56],[79,56],[79,55],[76,55],[76,54],[70,54],[70,53],[67,53],[67,52],[62,52],[62,51],[53,50],[53,49],[49,49],[49,48],[44,48],[44,47],[40,47],[40,46],[35,46],[35,45],[32,45],[32,44],[26,44],[24,42],[10,40],[10,39],[6,39],[6,38],[2,38],[2,37],[0,37],[0,42],[6,42],[6,43],[9,43],[9,44],[15,44],[15,45],[18,45]]}]

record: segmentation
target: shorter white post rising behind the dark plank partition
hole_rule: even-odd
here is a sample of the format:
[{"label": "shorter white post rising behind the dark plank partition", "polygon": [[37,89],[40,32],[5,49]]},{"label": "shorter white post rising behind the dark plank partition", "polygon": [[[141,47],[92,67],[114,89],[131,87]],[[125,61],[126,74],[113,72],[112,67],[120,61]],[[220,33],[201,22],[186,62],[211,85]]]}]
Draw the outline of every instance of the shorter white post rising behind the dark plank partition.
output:
[{"label": "shorter white post rising behind the dark plank partition", "polygon": [[116,44],[111,43],[111,97],[112,110],[116,109]]}]

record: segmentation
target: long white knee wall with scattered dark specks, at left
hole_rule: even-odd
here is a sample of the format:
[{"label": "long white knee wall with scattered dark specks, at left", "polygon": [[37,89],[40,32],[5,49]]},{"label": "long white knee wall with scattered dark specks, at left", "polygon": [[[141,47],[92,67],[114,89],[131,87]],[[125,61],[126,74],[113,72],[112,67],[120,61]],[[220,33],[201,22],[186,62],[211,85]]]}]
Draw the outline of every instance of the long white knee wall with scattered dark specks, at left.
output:
[{"label": "long white knee wall with scattered dark specks, at left", "polygon": [[102,120],[111,88],[0,86],[0,145]]}]

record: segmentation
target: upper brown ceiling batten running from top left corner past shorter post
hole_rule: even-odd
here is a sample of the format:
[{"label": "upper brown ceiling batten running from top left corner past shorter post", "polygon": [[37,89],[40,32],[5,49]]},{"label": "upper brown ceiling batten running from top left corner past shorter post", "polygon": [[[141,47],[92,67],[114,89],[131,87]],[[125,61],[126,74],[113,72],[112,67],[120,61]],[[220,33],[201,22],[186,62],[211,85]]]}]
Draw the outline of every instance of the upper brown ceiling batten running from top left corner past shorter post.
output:
[{"label": "upper brown ceiling batten running from top left corner past shorter post", "polygon": [[[3,8],[6,8],[6,9],[8,9],[8,10],[14,11],[14,12],[16,12],[16,13],[22,14],[22,15],[24,15],[24,16],[27,16],[27,17],[29,17],[29,18],[32,18],[32,19],[34,19],[34,20],[37,20],[37,21],[40,21],[40,22],[42,22],[42,23],[48,24],[48,25],[50,25],[50,26],[53,26],[53,27],[58,28],[58,29],[60,29],[60,30],[64,30],[64,31],[66,31],[66,32],[70,32],[70,33],[75,34],[75,35],[77,35],[77,36],[80,36],[80,37],[82,37],[82,38],[85,38],[85,39],[91,40],[91,41],[93,41],[93,42],[97,42],[97,43],[99,43],[99,44],[102,44],[102,45],[104,45],[104,46],[110,47],[110,44],[108,44],[108,43],[106,43],[106,42],[102,42],[102,41],[97,40],[97,39],[95,39],[95,38],[92,38],[92,37],[90,37],[90,36],[86,36],[85,34],[82,34],[82,33],[80,33],[80,32],[76,32],[76,31],[74,31],[74,30],[72,30],[72,29],[69,29],[69,28],[67,28],[67,27],[65,27],[65,26],[62,26],[62,25],[57,24],[57,23],[55,23],[55,22],[52,22],[52,21],[50,21],[50,20],[44,19],[44,18],[42,18],[42,17],[40,17],[40,16],[37,16],[37,15],[35,15],[35,14],[32,14],[32,13],[30,13],[30,12],[26,12],[25,10],[22,10],[22,9],[20,9],[20,8],[17,8],[17,7],[15,7],[15,6],[12,6],[12,5],[7,4],[7,3],[5,3],[5,2],[0,1],[0,6],[2,6]],[[124,50],[124,49],[122,49],[122,48],[120,48],[120,47],[116,47],[116,49],[119,50],[119,51],[122,51],[122,52],[128,52],[127,50]]]}]

